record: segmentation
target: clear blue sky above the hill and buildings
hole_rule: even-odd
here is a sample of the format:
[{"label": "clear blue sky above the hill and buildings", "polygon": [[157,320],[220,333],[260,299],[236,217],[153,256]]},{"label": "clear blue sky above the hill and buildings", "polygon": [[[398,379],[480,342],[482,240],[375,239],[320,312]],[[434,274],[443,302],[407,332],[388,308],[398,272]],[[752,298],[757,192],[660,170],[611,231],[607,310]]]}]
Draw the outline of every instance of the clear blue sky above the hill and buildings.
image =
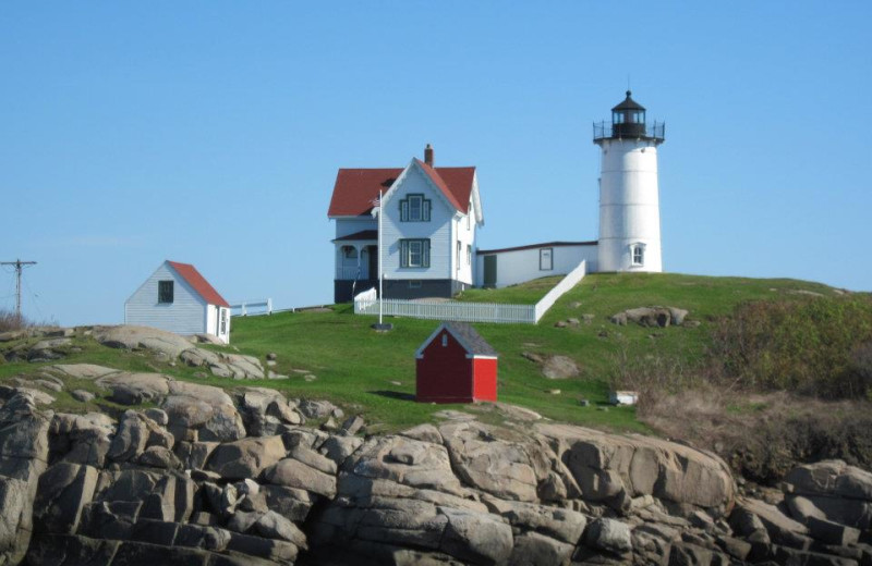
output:
[{"label": "clear blue sky above the hill and buildings", "polygon": [[[0,260],[112,323],[164,259],[329,303],[338,168],[475,165],[483,248],[594,239],[591,123],[628,77],[664,264],[872,288],[872,3],[3,2]],[[14,307],[0,272],[0,308]]]}]

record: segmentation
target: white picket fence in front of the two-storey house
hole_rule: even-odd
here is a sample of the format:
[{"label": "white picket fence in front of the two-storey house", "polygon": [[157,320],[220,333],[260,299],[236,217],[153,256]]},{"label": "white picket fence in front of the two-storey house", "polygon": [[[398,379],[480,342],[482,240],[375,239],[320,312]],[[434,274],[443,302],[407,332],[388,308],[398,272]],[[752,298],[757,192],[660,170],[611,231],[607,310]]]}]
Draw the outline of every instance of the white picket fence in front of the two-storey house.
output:
[{"label": "white picket fence in front of the two-storey house", "polygon": [[[382,309],[387,317],[535,324],[564,293],[584,279],[585,273],[586,263],[582,261],[535,305],[386,298],[382,302]],[[378,315],[378,293],[375,288],[364,291],[354,297],[354,313]]]}]

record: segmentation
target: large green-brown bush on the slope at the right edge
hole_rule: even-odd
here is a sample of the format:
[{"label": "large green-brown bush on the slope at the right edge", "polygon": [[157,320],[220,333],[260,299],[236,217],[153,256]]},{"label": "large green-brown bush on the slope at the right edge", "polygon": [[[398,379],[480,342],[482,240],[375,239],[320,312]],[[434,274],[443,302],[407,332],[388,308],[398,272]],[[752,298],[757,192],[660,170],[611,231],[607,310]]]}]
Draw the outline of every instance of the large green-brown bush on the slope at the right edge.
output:
[{"label": "large green-brown bush on the slope at the right edge", "polygon": [[708,359],[725,385],[863,398],[872,392],[870,342],[868,295],[756,302],[718,321]]}]

